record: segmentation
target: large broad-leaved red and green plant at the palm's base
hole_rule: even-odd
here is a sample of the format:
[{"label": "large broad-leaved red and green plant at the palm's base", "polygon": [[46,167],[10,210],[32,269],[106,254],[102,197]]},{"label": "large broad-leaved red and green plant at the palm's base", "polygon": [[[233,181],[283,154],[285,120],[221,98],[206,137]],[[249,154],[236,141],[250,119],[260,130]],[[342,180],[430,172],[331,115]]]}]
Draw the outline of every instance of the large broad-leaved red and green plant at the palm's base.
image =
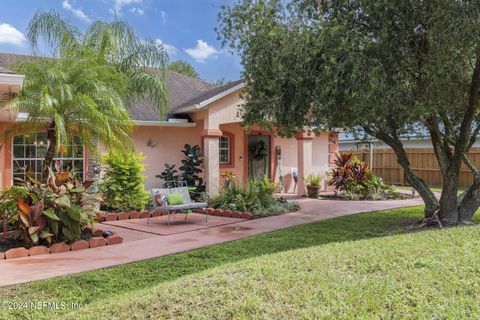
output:
[{"label": "large broad-leaved red and green plant at the palm's base", "polygon": [[0,198],[0,208],[8,212],[13,229],[10,236],[26,246],[80,239],[82,231],[93,224],[95,205],[101,201],[87,194],[86,188],[88,184],[76,180],[74,173],[55,174],[52,169],[46,184],[29,174],[26,180],[17,180]]}]

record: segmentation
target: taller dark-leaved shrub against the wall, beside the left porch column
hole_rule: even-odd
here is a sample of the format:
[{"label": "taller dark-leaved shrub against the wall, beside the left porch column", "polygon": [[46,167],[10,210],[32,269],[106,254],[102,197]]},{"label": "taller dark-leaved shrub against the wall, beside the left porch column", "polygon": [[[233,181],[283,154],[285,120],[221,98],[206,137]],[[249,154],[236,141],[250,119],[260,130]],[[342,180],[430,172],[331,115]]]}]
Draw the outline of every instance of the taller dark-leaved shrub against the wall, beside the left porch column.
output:
[{"label": "taller dark-leaved shrub against the wall, beside the left porch column", "polygon": [[181,180],[189,187],[190,197],[197,200],[205,192],[205,183],[200,174],[203,172],[200,167],[203,163],[203,154],[200,152],[200,146],[191,146],[186,144],[182,153],[185,157],[182,160],[182,166],[179,168],[181,172]]}]

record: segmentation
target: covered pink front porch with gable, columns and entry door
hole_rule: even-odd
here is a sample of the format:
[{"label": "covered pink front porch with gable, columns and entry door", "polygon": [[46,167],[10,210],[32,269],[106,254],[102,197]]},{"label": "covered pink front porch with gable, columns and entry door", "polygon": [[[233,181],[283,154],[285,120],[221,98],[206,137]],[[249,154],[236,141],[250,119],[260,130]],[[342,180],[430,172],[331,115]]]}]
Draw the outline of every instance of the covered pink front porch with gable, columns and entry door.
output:
[{"label": "covered pink front porch with gable, columns and entry door", "polygon": [[277,192],[304,196],[303,177],[328,171],[338,152],[338,134],[300,132],[286,138],[258,126],[245,128],[239,117],[242,103],[238,94],[229,95],[191,114],[195,122],[203,124],[207,191],[218,194],[224,184],[222,175],[230,172],[238,183],[267,176],[278,184]]}]

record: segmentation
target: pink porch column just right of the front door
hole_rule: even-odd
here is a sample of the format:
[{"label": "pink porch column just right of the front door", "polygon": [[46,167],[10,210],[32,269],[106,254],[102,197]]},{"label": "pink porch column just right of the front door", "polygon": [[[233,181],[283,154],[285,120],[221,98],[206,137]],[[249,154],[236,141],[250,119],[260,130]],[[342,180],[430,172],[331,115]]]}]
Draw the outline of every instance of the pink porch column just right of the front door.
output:
[{"label": "pink porch column just right of the front door", "polygon": [[310,173],[312,173],[312,140],[313,134],[298,133],[297,139],[297,163],[298,163],[298,187],[297,194],[304,196],[307,194],[305,181]]}]

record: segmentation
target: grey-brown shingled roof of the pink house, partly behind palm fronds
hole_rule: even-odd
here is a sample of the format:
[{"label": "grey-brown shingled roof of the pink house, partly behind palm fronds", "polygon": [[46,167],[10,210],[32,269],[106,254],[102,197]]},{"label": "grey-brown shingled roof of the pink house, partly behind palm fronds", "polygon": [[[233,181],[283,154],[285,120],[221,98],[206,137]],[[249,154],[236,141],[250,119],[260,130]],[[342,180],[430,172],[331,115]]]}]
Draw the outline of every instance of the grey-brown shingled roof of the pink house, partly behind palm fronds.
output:
[{"label": "grey-brown shingled roof of the pink house, partly behind palm fronds", "polygon": [[[27,55],[0,53],[0,73],[14,73],[7,68],[11,68],[15,64],[25,62],[32,58],[32,56]],[[170,112],[174,113],[178,108],[205,101],[225,90],[235,87],[241,82],[241,80],[238,80],[218,87],[203,80],[168,71],[167,88]],[[135,105],[129,108],[129,112],[134,120],[160,120],[158,111],[148,102],[135,103]]]}]

